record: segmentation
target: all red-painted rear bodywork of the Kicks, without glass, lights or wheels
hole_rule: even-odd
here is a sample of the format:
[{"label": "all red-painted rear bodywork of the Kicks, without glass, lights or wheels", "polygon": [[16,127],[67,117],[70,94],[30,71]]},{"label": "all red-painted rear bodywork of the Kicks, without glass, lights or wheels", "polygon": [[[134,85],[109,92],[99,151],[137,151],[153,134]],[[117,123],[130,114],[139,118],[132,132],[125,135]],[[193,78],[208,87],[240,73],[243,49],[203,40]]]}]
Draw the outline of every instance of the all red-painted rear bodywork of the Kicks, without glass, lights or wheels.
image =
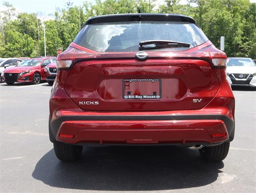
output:
[{"label": "all red-painted rear bodywork of the Kicks, without glass, lights or wheels", "polygon": [[[235,100],[226,79],[226,69],[215,69],[211,63],[212,57],[226,58],[226,55],[210,41],[186,51],[148,51],[145,61],[135,59],[135,52],[98,53],[75,43],[70,46],[58,55],[57,60],[72,59],[75,64],[70,69],[58,70],[50,97],[51,125],[54,126],[59,118],[65,118],[58,128],[53,128],[56,140],[71,144],[185,145],[212,144],[229,139],[230,126],[218,120],[218,115],[234,122]],[[123,85],[123,79],[161,79],[162,98],[124,99],[123,89],[146,93],[157,90],[158,86]],[[193,102],[193,99],[202,100]],[[86,105],[81,101],[98,101],[99,104]],[[68,120],[72,116],[134,115],[216,115],[217,118]],[[212,138],[212,134],[220,133],[227,135]],[[61,138],[59,134],[74,137]]]}]

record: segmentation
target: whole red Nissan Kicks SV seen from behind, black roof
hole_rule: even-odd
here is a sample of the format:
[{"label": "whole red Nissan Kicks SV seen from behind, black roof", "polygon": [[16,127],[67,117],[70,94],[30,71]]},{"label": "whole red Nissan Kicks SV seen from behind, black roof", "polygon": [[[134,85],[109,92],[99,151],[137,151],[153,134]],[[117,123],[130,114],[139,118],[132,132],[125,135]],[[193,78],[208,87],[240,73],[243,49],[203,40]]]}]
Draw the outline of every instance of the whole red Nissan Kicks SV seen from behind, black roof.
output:
[{"label": "whole red Nissan Kicks SV seen from behind, black roof", "polygon": [[49,135],[58,159],[88,145],[174,145],[226,158],[235,99],[226,54],[194,19],[118,14],[87,20],[57,57]]}]

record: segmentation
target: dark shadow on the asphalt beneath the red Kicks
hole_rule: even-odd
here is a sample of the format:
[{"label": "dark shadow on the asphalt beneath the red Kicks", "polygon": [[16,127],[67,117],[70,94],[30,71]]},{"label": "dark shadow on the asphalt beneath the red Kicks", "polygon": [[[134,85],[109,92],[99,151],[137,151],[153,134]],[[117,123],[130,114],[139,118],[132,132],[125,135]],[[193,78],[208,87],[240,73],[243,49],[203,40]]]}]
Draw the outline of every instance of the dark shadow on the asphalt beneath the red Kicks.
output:
[{"label": "dark shadow on the asphalt beneath the red Kicks", "polygon": [[50,150],[36,164],[35,179],[52,187],[100,191],[154,191],[200,187],[216,181],[223,162],[206,163],[198,150],[174,146],[84,148],[73,163]]}]

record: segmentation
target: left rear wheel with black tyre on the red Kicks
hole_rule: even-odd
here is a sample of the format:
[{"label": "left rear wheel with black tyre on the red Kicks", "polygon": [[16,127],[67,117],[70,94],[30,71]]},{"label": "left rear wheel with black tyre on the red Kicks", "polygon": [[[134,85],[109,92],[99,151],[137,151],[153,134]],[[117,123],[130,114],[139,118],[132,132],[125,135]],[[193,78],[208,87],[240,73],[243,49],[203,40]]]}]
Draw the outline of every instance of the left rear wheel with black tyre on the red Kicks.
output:
[{"label": "left rear wheel with black tyre on the red Kicks", "polygon": [[61,161],[76,161],[80,158],[83,146],[64,144],[62,142],[53,143],[56,157]]}]

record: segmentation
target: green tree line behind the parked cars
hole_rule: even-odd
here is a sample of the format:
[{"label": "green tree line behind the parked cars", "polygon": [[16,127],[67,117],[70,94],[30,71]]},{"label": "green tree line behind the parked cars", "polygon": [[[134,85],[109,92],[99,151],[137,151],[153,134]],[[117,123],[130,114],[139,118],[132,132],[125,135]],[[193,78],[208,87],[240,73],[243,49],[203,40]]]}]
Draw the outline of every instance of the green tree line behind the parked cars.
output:
[{"label": "green tree line behind the parked cars", "polygon": [[57,47],[65,50],[90,17],[124,13],[174,13],[191,16],[207,37],[220,47],[225,36],[225,52],[229,57],[256,58],[256,3],[249,0],[96,0],[73,6],[69,0],[64,8],[56,8],[49,20],[41,13],[17,13],[12,4],[4,2],[0,13],[0,57],[35,57],[46,53],[57,55]]}]

